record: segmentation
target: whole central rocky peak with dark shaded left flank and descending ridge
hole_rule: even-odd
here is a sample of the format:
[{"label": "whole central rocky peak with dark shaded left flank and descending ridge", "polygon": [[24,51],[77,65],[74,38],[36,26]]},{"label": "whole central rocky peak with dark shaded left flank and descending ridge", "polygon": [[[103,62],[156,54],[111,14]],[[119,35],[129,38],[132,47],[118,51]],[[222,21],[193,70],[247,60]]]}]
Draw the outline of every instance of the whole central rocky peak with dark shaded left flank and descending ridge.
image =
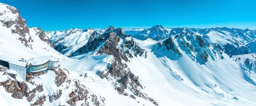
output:
[{"label": "whole central rocky peak with dark shaded left flank and descending ridge", "polygon": [[[113,62],[107,64],[106,70],[97,71],[99,77],[114,80],[114,89],[116,89],[120,94],[128,96],[125,89],[129,89],[134,92],[133,94],[135,96],[149,100],[150,97],[140,91],[143,88],[142,85],[140,85],[139,77],[131,73],[125,63],[133,56],[143,56],[146,58],[147,52],[141,48],[131,36],[125,35],[121,28],[114,29],[113,26],[110,26],[110,28],[108,28],[102,35],[94,33],[90,36],[88,43],[75,51],[72,56],[93,52],[98,47],[99,49],[96,51],[96,54],[112,55],[114,57]],[[131,88],[128,88],[128,85],[131,86]],[[71,93],[71,96],[73,95],[74,93]],[[76,100],[77,97],[72,98],[69,101],[69,104],[72,105],[72,101]],[[152,102],[153,101],[154,100],[152,99]],[[157,105],[156,102],[154,104]]]}]

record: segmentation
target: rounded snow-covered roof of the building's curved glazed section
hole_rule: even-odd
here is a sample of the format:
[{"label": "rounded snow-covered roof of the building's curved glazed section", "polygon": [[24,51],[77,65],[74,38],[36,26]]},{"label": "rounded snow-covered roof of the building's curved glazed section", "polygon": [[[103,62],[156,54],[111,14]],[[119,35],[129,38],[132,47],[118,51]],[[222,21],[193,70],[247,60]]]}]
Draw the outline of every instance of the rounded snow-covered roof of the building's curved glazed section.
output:
[{"label": "rounded snow-covered roof of the building's curved glazed section", "polygon": [[39,56],[36,58],[28,59],[28,63],[31,63],[32,65],[43,65],[44,63],[47,63],[48,61],[54,61],[57,62],[57,59],[52,58],[51,56]]}]

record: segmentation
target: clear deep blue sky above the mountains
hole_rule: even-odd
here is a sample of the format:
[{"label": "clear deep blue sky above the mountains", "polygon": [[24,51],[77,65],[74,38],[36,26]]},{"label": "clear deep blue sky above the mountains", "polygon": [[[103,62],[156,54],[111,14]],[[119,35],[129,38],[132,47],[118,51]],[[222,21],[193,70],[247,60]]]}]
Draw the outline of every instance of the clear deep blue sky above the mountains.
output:
[{"label": "clear deep blue sky above the mountains", "polygon": [[256,29],[255,0],[0,0],[20,10],[29,27],[165,27]]}]

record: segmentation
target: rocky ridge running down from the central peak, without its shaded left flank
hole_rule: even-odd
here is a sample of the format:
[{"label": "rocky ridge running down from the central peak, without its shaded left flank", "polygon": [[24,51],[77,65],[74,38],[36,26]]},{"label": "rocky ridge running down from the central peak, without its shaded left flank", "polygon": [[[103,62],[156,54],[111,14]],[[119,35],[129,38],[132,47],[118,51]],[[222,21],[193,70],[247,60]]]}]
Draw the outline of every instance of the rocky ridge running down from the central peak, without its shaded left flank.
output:
[{"label": "rocky ridge running down from the central peak, without its shaded left flank", "polygon": [[[129,95],[129,97],[132,98],[133,96],[131,95],[135,95],[149,100],[150,97],[140,91],[143,88],[139,82],[139,77],[131,73],[125,63],[128,62],[128,58],[133,57],[132,55],[144,56],[146,58],[147,52],[140,48],[138,43],[136,43],[132,37],[128,37],[120,32],[119,29],[109,33],[109,38],[105,41],[104,45],[99,48],[98,54],[113,55],[114,59],[112,60],[112,63],[107,65],[107,70],[98,71],[97,74],[101,78],[106,78],[108,80],[116,79],[114,89],[116,89],[118,93],[124,94],[125,96]],[[121,43],[121,46],[118,46],[118,43],[122,38],[123,43]],[[125,62],[123,62],[123,60]],[[128,86],[130,87],[128,88]],[[125,92],[125,89],[131,90],[133,94],[128,94]],[[153,99],[152,103],[158,105]]]}]

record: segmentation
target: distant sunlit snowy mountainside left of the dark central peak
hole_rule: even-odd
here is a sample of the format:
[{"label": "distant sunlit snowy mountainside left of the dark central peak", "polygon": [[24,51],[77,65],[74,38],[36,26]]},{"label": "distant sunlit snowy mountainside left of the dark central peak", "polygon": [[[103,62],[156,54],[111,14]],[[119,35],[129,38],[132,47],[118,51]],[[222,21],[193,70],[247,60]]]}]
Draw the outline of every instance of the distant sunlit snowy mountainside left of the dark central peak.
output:
[{"label": "distant sunlit snowy mountainside left of the dark central peak", "polygon": [[51,42],[54,45],[55,50],[62,54],[69,56],[78,48],[84,46],[87,43],[91,35],[97,33],[103,33],[106,29],[69,29],[66,31],[51,31],[46,35],[50,37]]}]

